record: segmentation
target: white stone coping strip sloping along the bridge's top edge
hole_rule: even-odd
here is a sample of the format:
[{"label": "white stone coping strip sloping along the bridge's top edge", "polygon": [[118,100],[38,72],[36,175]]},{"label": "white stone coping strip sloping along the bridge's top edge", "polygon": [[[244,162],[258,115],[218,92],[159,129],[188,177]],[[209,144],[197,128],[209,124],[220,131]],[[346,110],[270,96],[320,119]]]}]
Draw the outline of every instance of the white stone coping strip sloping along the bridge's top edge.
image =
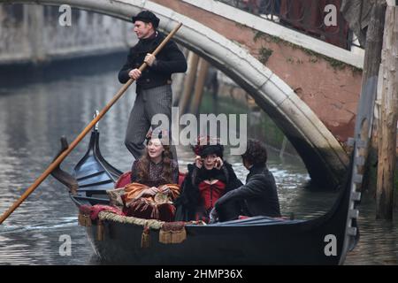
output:
[{"label": "white stone coping strip sloping along the bridge's top edge", "polygon": [[356,49],[357,53],[341,49],[333,44],[320,41],[306,34],[301,34],[290,28],[275,24],[271,20],[260,18],[222,2],[214,0],[182,0],[182,2],[191,4],[205,11],[210,11],[226,19],[233,21],[239,19],[240,24],[254,28],[264,34],[277,36],[284,41],[292,42],[305,49],[313,50],[327,57],[332,57],[348,65],[353,65],[360,69],[364,68],[364,50],[362,49]]}]

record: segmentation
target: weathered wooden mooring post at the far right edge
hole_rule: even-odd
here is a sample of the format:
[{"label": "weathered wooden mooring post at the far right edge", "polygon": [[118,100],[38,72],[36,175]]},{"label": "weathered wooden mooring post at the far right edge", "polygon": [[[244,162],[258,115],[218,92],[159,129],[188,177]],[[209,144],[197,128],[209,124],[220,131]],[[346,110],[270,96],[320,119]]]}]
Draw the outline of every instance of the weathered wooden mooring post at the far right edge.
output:
[{"label": "weathered wooden mooring post at the far right edge", "polygon": [[398,6],[387,0],[381,54],[382,99],[379,120],[379,167],[376,218],[392,219],[398,117]]}]

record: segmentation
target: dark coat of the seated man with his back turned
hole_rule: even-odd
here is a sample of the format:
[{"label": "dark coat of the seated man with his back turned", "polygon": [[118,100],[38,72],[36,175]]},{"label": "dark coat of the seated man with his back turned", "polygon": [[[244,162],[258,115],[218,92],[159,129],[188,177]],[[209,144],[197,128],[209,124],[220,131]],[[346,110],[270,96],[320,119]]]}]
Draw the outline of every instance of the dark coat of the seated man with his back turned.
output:
[{"label": "dark coat of the seated man with his back turned", "polygon": [[228,203],[237,200],[243,200],[242,212],[244,215],[280,217],[275,179],[266,166],[253,165],[249,169],[246,185],[221,196],[215,204],[216,210],[223,210]]}]

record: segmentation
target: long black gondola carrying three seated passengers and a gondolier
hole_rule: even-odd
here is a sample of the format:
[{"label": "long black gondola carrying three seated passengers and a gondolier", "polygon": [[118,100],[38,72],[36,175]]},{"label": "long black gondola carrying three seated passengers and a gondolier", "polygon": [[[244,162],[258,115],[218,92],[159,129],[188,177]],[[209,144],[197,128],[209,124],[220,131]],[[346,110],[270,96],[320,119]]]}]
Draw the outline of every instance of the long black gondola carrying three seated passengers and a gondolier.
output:
[{"label": "long black gondola carrying three seated passengers and a gondolier", "polygon": [[[73,173],[59,167],[52,172],[69,187],[78,209],[109,204],[106,190],[114,188],[122,175],[103,158],[98,141],[96,126],[88,151]],[[64,140],[61,152],[66,147]],[[142,247],[145,227],[114,219],[90,221],[86,229],[96,255],[108,264],[343,264],[359,235],[354,209],[358,196],[351,187],[350,177],[333,208],[319,218],[255,217],[210,225],[187,224],[186,239],[179,243],[161,242],[159,230],[149,229],[149,245]]]}]

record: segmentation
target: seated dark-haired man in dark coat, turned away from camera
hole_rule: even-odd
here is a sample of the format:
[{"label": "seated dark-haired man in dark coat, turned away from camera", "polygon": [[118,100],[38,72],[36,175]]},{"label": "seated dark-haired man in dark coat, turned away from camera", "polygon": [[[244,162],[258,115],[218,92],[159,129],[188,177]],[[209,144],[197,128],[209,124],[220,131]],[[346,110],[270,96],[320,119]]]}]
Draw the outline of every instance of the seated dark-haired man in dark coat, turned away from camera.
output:
[{"label": "seated dark-haired man in dark coat, turned away from camera", "polygon": [[242,163],[249,170],[246,185],[238,187],[221,196],[211,211],[211,218],[218,218],[218,210],[226,203],[241,201],[243,215],[280,217],[279,199],[275,179],[266,167],[267,151],[261,142],[248,141],[248,148],[242,154]]}]

